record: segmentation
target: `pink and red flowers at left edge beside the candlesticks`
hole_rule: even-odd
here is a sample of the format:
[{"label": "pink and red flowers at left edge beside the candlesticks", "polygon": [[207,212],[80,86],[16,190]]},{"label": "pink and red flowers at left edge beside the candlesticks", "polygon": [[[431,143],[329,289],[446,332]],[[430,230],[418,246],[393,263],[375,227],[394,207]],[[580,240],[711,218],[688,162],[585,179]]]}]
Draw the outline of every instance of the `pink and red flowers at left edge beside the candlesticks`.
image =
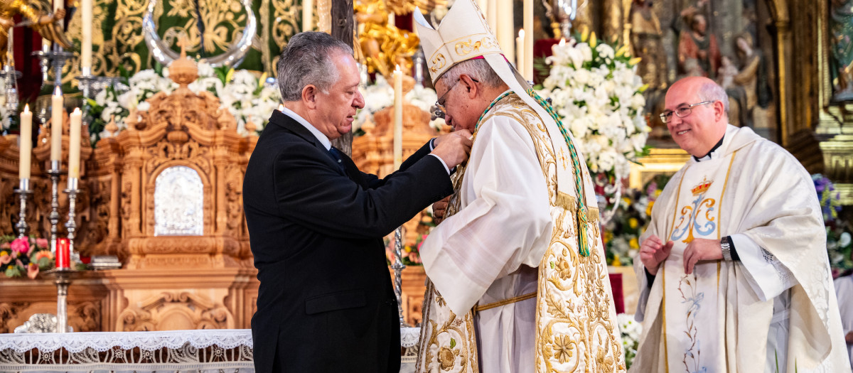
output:
[{"label": "pink and red flowers at left edge beside the candlesticks", "polygon": [[47,239],[0,236],[0,271],[6,277],[21,277],[26,273],[27,277],[36,278],[39,271],[53,265]]}]

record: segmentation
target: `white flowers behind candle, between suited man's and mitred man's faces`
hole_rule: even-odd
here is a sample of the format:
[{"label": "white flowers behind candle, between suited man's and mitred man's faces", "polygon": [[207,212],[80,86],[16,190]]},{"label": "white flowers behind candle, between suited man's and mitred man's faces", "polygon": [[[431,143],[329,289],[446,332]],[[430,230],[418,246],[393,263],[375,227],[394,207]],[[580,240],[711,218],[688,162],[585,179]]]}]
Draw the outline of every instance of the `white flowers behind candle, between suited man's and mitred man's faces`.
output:
[{"label": "white flowers behind candle, between suited man's and mitred man's faces", "polygon": [[[394,88],[380,74],[376,74],[376,81],[373,84],[362,87],[362,94],[364,95],[364,108],[358,111],[356,121],[352,125],[353,132],[357,133],[368,119],[373,121],[374,113],[394,105]],[[408,100],[414,106],[420,107],[421,110],[429,112],[432,105],[438,100],[438,95],[432,89],[415,85],[405,95],[405,100]],[[444,126],[444,118],[436,118],[430,121],[429,125],[436,130],[440,130]]]}]

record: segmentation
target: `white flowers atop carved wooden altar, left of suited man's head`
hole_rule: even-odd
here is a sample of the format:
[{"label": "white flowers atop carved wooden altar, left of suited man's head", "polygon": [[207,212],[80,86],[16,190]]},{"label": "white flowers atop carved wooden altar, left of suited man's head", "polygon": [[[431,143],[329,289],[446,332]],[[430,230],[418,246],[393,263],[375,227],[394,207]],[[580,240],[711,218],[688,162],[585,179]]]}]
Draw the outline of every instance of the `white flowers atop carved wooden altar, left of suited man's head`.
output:
[{"label": "white flowers atop carved wooden altar, left of suited man's head", "polygon": [[[252,122],[258,126],[257,130],[264,128],[270,113],[278,107],[281,102],[281,93],[274,79],[266,79],[265,74],[256,78],[246,70],[224,70],[214,69],[208,63],[198,63],[199,77],[194,83],[189,84],[189,90],[194,93],[202,91],[211,92],[217,96],[220,108],[228,109],[237,120],[237,132],[241,135],[250,135],[246,130],[246,123]],[[163,68],[161,72],[148,69],[136,72],[128,79],[129,88],[123,93],[115,89],[104,89],[95,100],[90,100],[93,107],[92,112],[96,118],[92,121],[92,141],[98,136],[106,136],[101,132],[103,125],[109,123],[114,116],[119,130],[125,129],[125,118],[131,109],[137,111],[148,110],[148,98],[158,92],[171,93],[177,89],[177,83],[169,79],[169,69]]]}]

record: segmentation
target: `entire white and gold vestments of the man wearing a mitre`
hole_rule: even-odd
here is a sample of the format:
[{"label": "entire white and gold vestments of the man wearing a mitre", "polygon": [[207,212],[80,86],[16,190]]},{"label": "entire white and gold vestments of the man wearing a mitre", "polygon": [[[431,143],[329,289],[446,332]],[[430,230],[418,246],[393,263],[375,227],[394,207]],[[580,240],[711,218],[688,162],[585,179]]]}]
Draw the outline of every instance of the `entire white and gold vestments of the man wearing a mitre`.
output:
[{"label": "entire white and gold vestments of the man wearing a mitre", "polygon": [[432,283],[417,371],[624,371],[597,209],[590,255],[579,255],[577,193],[562,192],[575,190],[573,179],[556,186],[558,169],[572,170],[566,141],[518,95],[501,97],[474,132],[447,216],[421,246]]}]

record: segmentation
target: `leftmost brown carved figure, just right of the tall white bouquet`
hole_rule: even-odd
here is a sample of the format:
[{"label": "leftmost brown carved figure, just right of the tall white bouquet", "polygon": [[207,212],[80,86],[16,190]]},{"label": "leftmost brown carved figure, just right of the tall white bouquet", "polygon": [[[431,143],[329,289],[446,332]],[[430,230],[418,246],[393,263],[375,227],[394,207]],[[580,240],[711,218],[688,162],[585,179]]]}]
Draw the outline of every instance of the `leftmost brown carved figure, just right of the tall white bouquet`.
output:
[{"label": "leftmost brown carved figure, just right of the tall white bouquet", "polygon": [[666,89],[666,53],[658,16],[652,11],[652,3],[647,0],[634,0],[631,4],[631,48],[633,55],[640,57],[637,75],[649,89]]}]

